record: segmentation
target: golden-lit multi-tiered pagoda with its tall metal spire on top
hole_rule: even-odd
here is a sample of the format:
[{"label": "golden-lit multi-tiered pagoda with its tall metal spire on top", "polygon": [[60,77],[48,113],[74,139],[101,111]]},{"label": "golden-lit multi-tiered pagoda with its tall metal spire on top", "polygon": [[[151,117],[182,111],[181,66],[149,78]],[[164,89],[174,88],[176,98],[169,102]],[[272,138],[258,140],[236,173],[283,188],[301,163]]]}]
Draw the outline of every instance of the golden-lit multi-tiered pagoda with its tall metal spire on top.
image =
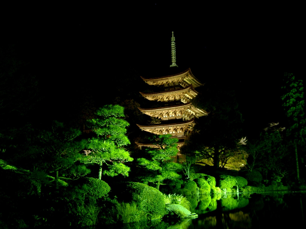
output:
[{"label": "golden-lit multi-tiered pagoda with its tall metal spire on top", "polygon": [[[176,65],[175,38],[172,32],[171,38],[171,54],[172,65],[170,67],[178,67]],[[173,138],[178,138],[178,147],[184,144],[185,137],[190,133],[195,125],[195,118],[207,115],[208,112],[196,108],[191,104],[191,100],[195,98],[198,92],[196,87],[203,86],[196,79],[190,68],[179,74],[164,76],[159,78],[141,77],[147,84],[155,85],[162,88],[162,92],[158,93],[141,93],[148,100],[160,101],[159,108],[139,108],[141,112],[151,117],[162,120],[156,125],[138,125],[141,130],[154,134],[171,134]],[[136,144],[139,147],[154,147],[153,144]]]}]

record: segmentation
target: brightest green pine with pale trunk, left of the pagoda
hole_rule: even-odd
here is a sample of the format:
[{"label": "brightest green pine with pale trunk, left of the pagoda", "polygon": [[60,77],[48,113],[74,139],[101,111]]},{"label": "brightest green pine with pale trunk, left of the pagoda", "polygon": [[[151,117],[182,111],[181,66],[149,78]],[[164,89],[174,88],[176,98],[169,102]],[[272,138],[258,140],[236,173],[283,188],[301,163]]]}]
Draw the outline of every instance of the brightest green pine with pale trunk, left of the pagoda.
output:
[{"label": "brightest green pine with pale trunk, left of the pagoda", "polygon": [[[124,107],[119,105],[105,105],[97,109],[97,118],[88,121],[95,136],[88,140],[87,149],[81,158],[84,163],[99,165],[99,179],[103,174],[129,176],[130,168],[123,162],[131,162],[129,152],[124,148],[130,144],[126,134],[129,123],[123,119]],[[103,163],[107,169],[103,170]]]}]

